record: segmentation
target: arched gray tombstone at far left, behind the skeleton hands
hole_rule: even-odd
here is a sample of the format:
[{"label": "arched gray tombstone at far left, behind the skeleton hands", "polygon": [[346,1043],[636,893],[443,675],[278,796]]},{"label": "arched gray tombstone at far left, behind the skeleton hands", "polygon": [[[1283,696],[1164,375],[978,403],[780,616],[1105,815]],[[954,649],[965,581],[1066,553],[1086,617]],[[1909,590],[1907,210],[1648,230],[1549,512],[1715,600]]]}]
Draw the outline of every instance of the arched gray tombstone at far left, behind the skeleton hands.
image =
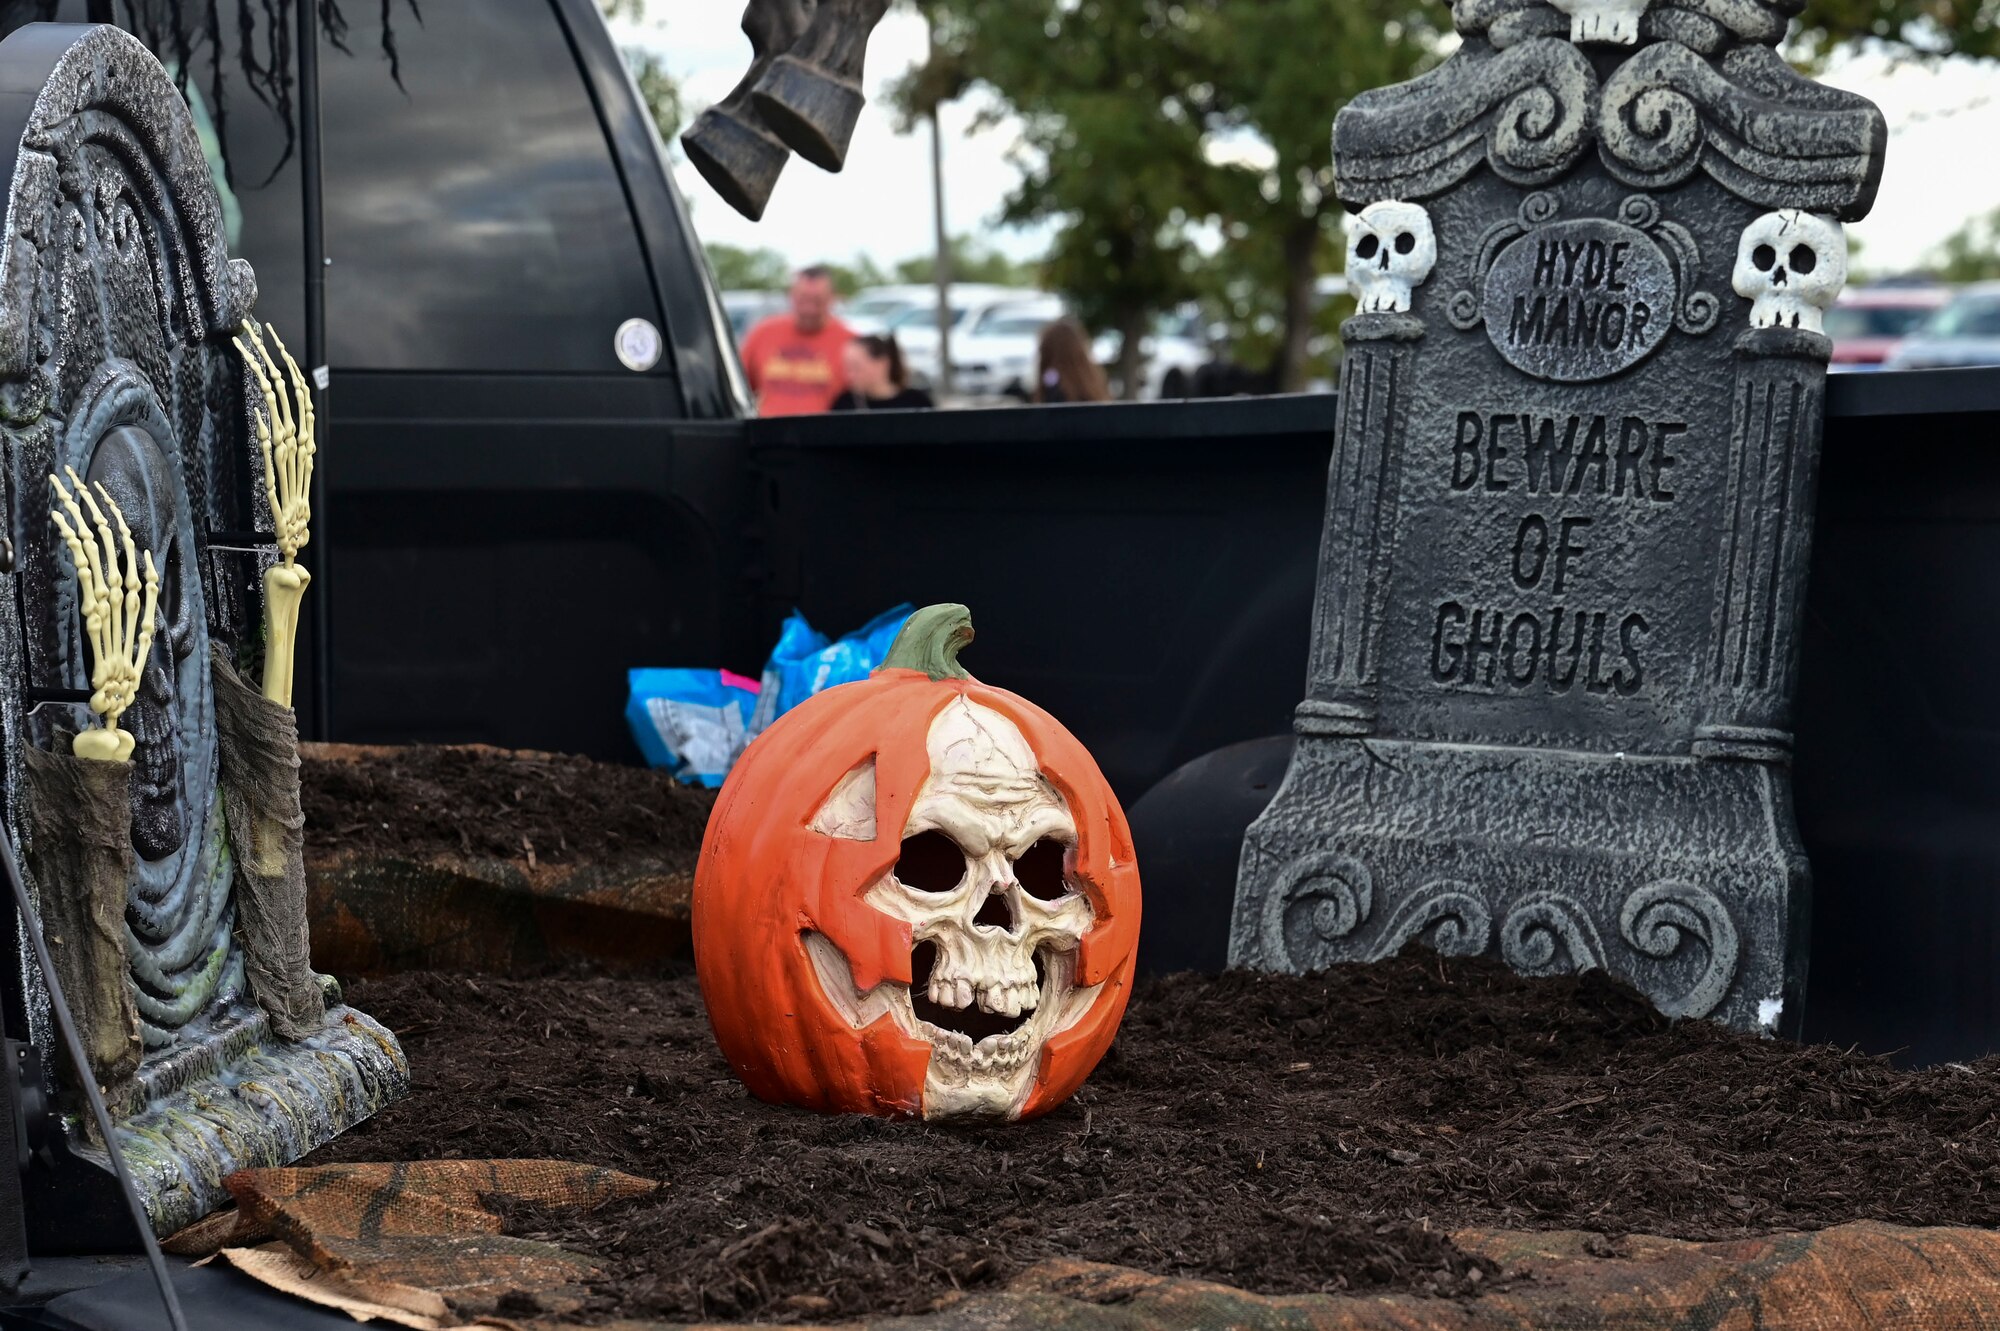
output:
[{"label": "arched gray tombstone at far left, behind the skeleton hands", "polygon": [[[30,871],[58,861],[38,853],[50,847],[36,829],[60,839],[74,819],[34,799],[30,769],[90,719],[76,584],[48,518],[48,474],[68,466],[116,496],[160,570],[152,656],[124,717],[136,749],[118,773],[130,789],[128,817],[118,809],[130,853],[114,847],[130,861],[122,939],[116,911],[104,929],[112,967],[126,967],[110,975],[124,981],[112,993],[130,1003],[134,1047],[100,1079],[118,1147],[168,1233],[228,1201],[230,1171],[288,1163],[372,1113],[408,1085],[408,1067],[332,981],[324,1021],[282,1039],[244,979],[232,869],[244,829],[222,811],[216,662],[248,664],[260,646],[260,572],[274,556],[256,532],[272,518],[254,388],[232,350],[256,278],[228,258],[188,106],[132,36],[32,24],[0,42],[0,482],[16,554],[0,578],[0,797]],[[46,921],[80,919],[80,883],[30,889]],[[50,939],[58,963],[90,941],[80,931]],[[30,1173],[36,1247],[130,1243],[106,1143],[66,1091],[74,1069],[56,1051],[40,973],[24,947],[0,967],[8,1025],[24,1023],[40,1049],[60,1119]],[[110,1017],[96,1017],[104,1029]]]}]

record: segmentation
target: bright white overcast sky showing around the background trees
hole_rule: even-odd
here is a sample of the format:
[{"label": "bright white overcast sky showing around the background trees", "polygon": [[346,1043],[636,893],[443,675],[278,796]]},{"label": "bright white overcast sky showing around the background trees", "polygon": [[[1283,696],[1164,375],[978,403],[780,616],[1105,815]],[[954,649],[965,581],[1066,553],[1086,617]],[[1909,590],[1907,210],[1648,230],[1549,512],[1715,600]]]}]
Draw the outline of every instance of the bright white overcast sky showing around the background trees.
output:
[{"label": "bright white overcast sky showing around the background trees", "polygon": [[[1254,4],[1254,0],[1244,0]],[[738,30],[740,0],[652,0],[648,22],[618,24],[620,40],[660,52],[680,78],[690,108],[720,102],[750,64],[750,40]],[[848,168],[838,176],[798,158],[786,168],[764,220],[746,222],[684,162],[680,188],[694,206],[704,240],[778,250],[794,264],[850,260],[882,264],[930,250],[928,130],[900,136],[880,100],[882,86],[924,54],[924,24],[894,12],[868,46],[868,96]],[[1892,272],[1914,264],[1966,218],[2000,208],[2000,172],[1990,170],[2000,142],[2000,64],[1950,60],[1938,66],[1892,66],[1856,58],[1826,82],[1874,98],[1890,124],[1888,172],[1874,214],[1850,228],[1862,242],[1860,264]],[[1000,230],[1000,202],[1020,178],[1008,162],[1012,126],[970,132],[974,108],[946,108],[946,218],[1008,254],[1032,258],[1044,232]],[[1252,150],[1254,152],[1254,150]]]}]

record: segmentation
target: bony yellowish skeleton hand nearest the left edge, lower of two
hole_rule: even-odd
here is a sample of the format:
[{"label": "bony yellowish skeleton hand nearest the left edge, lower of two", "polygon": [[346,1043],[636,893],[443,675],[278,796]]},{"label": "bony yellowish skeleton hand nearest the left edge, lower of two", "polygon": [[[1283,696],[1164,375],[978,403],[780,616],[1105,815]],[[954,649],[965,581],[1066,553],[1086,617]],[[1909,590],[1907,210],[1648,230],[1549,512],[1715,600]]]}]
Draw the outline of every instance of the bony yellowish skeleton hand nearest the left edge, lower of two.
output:
[{"label": "bony yellowish skeleton hand nearest the left edge, lower of two", "polygon": [[[76,566],[76,602],[84,614],[84,638],[90,640],[92,660],[90,709],[104,717],[104,729],[86,729],[76,737],[76,755],[124,761],[132,757],[132,735],[118,729],[118,717],[138,695],[138,675],[152,652],[160,576],[152,568],[152,552],[134,548],[132,528],[126,526],[110,492],[98,486],[96,496],[92,496],[90,486],[76,476],[76,468],[64,470],[70,474],[70,486],[76,486],[76,494],[72,496],[52,474],[48,484],[56,492],[58,508],[48,510],[48,516],[56,520],[62,544],[70,548],[70,562]],[[82,508],[76,504],[78,498],[82,498]],[[84,508],[90,510],[90,522],[84,520]],[[104,518],[106,512],[110,512],[110,520]],[[118,524],[116,538],[112,522]],[[90,534],[92,526],[96,540]],[[140,606],[140,564],[146,568],[144,608]]]}]

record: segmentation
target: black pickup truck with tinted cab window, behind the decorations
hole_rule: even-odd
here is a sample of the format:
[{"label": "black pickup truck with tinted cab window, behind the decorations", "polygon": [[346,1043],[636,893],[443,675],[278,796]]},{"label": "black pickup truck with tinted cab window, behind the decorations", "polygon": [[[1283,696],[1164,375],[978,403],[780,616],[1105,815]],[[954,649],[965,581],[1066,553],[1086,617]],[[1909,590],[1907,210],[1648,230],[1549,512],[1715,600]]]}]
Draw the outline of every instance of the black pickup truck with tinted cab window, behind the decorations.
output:
[{"label": "black pickup truck with tinted cab window, behind the decorations", "polygon": [[[112,8],[192,74],[260,314],[324,346],[308,735],[636,759],[626,667],[754,673],[794,606],[840,630],[964,602],[972,667],[1068,721],[1134,805],[1148,963],[1222,965],[1234,839],[1302,693],[1332,396],[750,420],[592,0],[346,6],[318,188],[284,98],[204,94],[246,40],[294,58],[262,0],[218,4],[170,40],[156,6]],[[614,346],[630,320],[664,342],[642,372]],[[1828,394],[1806,1029],[1924,1061],[2000,1047],[1996,430],[2000,370]]]}]

